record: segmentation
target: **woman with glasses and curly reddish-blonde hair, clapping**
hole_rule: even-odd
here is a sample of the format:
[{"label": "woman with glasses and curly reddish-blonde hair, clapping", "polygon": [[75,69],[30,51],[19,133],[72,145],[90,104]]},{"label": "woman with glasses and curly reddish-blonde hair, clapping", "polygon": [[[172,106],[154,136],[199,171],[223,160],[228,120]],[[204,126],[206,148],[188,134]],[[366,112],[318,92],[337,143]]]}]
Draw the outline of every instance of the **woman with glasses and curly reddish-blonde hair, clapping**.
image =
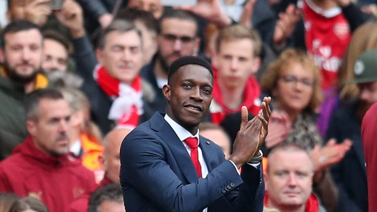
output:
[{"label": "woman with glasses and curly reddish-blonde hair, clapping", "polygon": [[351,142],[336,144],[330,140],[323,146],[316,126],[322,90],[315,61],[304,52],[288,49],[270,64],[261,88],[272,96],[267,150],[281,143],[295,143],[309,151],[315,169],[314,191],[327,211],[332,211],[338,191],[327,167],[344,157]]}]

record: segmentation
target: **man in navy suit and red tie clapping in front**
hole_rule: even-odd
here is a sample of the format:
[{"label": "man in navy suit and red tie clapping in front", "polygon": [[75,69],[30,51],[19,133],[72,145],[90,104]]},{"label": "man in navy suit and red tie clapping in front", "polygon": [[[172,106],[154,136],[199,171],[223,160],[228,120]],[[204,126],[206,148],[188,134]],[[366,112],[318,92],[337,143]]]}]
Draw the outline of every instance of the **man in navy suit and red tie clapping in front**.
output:
[{"label": "man in navy suit and red tie clapping in front", "polygon": [[185,56],[170,66],[162,89],[167,113],[156,113],[136,127],[121,146],[127,212],[262,212],[259,149],[267,135],[270,98],[264,98],[263,111],[250,121],[242,108],[241,130],[226,160],[220,147],[199,136],[212,90],[207,61]]}]

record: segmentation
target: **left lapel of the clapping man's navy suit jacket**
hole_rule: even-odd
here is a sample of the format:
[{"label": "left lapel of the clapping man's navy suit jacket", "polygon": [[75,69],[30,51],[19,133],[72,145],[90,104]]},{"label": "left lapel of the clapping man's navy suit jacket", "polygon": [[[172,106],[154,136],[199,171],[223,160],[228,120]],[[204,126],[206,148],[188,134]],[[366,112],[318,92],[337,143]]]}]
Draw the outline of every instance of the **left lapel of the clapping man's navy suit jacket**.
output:
[{"label": "left lapel of the clapping man's navy suit jacket", "polygon": [[163,116],[163,113],[155,113],[155,115],[153,115],[149,120],[151,123],[151,129],[156,131],[162,140],[170,147],[171,152],[187,181],[189,183],[195,183],[198,181],[198,175],[192,164],[191,158],[182,141],[178,138],[170,125],[163,119]]}]

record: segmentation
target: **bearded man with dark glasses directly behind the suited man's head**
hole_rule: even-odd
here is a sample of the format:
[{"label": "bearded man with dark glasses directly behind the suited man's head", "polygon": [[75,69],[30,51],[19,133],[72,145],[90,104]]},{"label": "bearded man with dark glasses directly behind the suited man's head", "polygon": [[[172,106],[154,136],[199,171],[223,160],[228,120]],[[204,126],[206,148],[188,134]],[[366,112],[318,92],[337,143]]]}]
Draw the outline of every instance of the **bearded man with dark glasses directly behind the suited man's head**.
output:
[{"label": "bearded man with dark glasses directly behind the suited man's head", "polygon": [[[196,55],[200,38],[197,37],[197,22],[185,11],[166,11],[160,19],[158,35],[158,52],[152,62],[145,66],[140,75],[149,81],[156,91],[154,101],[145,106],[145,114],[163,112],[166,100],[162,95],[162,87],[167,84],[167,71],[175,59],[184,55]],[[150,117],[144,117],[145,121]]]}]

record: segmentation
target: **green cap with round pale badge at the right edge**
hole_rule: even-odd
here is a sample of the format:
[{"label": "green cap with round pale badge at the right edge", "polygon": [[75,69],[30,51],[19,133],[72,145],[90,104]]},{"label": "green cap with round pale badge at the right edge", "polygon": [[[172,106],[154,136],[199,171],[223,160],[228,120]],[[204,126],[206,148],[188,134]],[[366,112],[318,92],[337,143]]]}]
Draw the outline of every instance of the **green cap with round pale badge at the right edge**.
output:
[{"label": "green cap with round pale badge at the right edge", "polygon": [[353,80],[346,83],[365,83],[377,81],[377,49],[364,52],[353,66]]}]

